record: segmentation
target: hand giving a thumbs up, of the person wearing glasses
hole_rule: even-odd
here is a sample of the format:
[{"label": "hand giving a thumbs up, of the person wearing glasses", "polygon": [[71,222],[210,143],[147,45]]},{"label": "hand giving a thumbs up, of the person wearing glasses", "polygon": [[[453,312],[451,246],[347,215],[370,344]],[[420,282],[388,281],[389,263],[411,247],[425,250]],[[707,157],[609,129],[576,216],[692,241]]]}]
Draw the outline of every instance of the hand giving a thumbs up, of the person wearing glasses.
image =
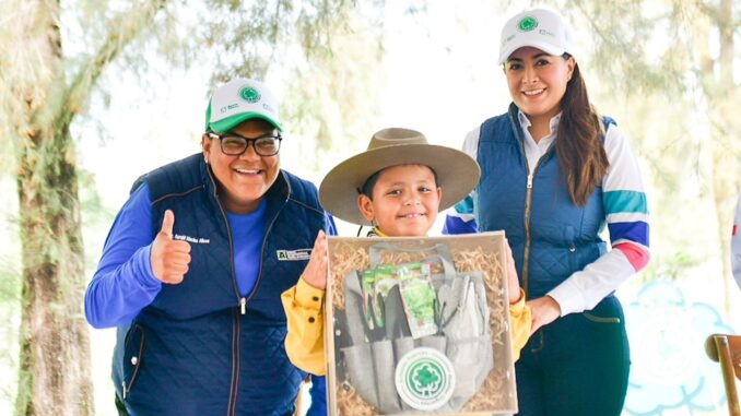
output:
[{"label": "hand giving a thumbs up, of the person wearing glasses", "polygon": [[183,282],[190,263],[190,245],[187,241],[173,240],[174,224],[175,214],[170,210],[165,211],[162,229],[152,241],[150,253],[154,276],[170,285]]}]

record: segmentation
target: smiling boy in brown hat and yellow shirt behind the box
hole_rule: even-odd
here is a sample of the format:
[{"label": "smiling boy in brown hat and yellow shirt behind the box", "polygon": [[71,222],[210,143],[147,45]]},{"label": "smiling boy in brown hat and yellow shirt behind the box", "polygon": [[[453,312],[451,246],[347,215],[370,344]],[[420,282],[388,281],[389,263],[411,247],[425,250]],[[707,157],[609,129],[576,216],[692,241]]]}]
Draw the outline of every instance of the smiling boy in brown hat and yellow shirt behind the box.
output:
[{"label": "smiling boy in brown hat and yellow shirt behind the box", "polygon": [[[385,129],[368,150],[336,166],[321,182],[319,200],[341,219],[373,225],[368,236],[426,236],[439,210],[468,195],[479,181],[477,162],[463,152],[427,144],[422,133]],[[445,188],[445,192],[443,191]],[[510,335],[515,360],[530,336],[530,309],[507,246]],[[289,333],[285,350],[304,371],[327,371],[321,305],[327,286],[327,237],[319,231],[296,286],[282,295]]]}]

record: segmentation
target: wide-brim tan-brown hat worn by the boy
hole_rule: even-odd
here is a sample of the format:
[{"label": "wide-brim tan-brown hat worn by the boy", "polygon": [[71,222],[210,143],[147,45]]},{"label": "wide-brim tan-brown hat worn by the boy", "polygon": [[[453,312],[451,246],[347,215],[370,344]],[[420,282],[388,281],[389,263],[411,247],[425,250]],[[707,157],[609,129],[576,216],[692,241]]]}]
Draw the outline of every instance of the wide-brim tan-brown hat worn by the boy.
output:
[{"label": "wide-brim tan-brown hat worn by the boy", "polygon": [[337,165],[319,187],[319,201],[333,216],[369,225],[357,207],[357,195],[375,173],[397,165],[424,165],[437,174],[443,188],[439,211],[463,200],[479,182],[479,164],[456,148],[428,144],[419,131],[391,128],[376,132],[368,148]]}]

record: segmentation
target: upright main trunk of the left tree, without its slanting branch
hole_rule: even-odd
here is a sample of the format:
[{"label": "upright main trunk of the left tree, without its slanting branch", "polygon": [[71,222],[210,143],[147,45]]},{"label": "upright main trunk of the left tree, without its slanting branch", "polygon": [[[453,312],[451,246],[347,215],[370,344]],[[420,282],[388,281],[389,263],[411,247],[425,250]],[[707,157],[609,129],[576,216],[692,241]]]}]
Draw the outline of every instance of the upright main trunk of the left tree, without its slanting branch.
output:
[{"label": "upright main trunk of the left tree, without its slanting branch", "polygon": [[23,34],[40,74],[16,86],[25,119],[15,128],[23,257],[17,415],[94,415],[90,340],[81,311],[84,257],[69,123],[52,121],[63,98],[59,2],[28,3]]}]

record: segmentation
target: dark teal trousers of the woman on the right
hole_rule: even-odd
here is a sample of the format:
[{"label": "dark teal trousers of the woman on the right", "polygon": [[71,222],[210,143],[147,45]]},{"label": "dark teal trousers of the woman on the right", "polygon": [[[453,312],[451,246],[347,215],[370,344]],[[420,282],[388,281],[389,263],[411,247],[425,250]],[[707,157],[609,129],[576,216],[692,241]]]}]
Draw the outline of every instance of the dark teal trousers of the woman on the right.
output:
[{"label": "dark teal trousers of the woman on the right", "polygon": [[631,366],[614,296],[536,332],[515,365],[520,416],[619,416]]}]

